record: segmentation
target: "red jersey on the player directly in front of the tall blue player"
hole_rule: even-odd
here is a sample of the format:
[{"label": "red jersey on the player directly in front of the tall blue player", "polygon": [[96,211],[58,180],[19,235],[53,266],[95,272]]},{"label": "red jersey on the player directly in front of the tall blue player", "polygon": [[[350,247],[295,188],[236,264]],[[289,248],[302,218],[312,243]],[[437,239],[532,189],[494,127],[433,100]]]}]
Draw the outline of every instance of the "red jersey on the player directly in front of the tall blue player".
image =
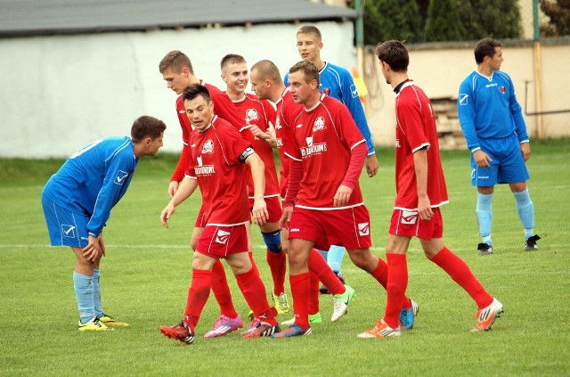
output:
[{"label": "red jersey on the player directly in front of the tall blue player", "polygon": [[301,111],[293,124],[293,137],[285,148],[292,159],[303,163],[296,206],[327,210],[363,205],[358,176],[351,177],[354,190],[346,205],[333,204],[338,186],[346,179],[353,149],[366,143],[346,106],[322,94],[320,102],[313,109]]}]

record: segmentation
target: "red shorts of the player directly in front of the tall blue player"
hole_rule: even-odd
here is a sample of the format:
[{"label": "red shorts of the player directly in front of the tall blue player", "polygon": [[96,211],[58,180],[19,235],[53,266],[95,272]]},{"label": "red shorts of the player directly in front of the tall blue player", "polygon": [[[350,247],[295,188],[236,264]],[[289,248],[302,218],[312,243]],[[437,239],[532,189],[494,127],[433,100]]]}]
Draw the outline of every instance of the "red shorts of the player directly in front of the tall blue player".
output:
[{"label": "red shorts of the player directly in front of the tall blue player", "polygon": [[332,210],[295,207],[289,222],[289,240],[293,238],[313,241],[319,250],[329,250],[330,245],[346,250],[370,248],[371,216],[364,205]]}]

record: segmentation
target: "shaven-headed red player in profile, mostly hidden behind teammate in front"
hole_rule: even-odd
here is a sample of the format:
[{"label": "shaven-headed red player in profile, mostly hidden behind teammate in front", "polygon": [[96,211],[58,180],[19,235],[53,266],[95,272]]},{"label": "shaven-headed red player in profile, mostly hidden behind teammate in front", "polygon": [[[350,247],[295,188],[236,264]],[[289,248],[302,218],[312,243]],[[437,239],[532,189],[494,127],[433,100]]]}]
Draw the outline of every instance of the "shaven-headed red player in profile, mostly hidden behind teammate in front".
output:
[{"label": "shaven-headed red player in profile, mostly hidden behind teammate in front", "polygon": [[[290,157],[285,152],[283,146],[287,144],[287,140],[291,136],[294,119],[303,111],[303,104],[295,103],[293,96],[289,92],[289,87],[283,85],[281,74],[273,61],[257,61],[251,67],[250,72],[251,88],[256,92],[260,99],[269,100],[275,103],[277,108],[275,119],[273,120],[274,138],[277,145],[277,150],[281,158],[281,198],[285,198],[287,192],[287,182],[289,176],[289,161]],[[289,250],[289,231],[287,228],[281,229],[281,245],[283,250]],[[321,324],[322,316],[319,312],[319,281],[321,281],[332,293],[333,304],[336,313],[332,316],[333,321],[337,321],[341,316],[346,313],[345,306],[342,300],[338,298],[346,292],[346,288],[341,283],[337,275],[330,269],[327,262],[317,250],[311,250],[309,254],[308,266],[310,270],[311,293],[309,298],[309,323]],[[295,317],[290,320],[284,321],[281,324],[294,324]]]}]

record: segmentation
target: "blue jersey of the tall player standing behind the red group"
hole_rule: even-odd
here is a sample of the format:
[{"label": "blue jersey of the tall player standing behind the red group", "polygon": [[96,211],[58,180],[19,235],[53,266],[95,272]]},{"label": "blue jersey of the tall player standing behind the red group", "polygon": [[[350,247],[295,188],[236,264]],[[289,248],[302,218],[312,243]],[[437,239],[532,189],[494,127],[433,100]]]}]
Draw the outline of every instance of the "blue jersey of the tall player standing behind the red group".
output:
[{"label": "blue jersey of the tall player standing behind the red group", "polygon": [[[371,129],[368,127],[366,115],[354,85],[353,77],[350,76],[348,70],[338,65],[325,62],[324,68],[319,71],[319,81],[321,82],[319,89],[322,93],[330,95],[343,102],[353,116],[354,123],[360,130],[360,133],[366,140],[368,146],[368,155],[374,154],[374,143],[372,142]],[[289,86],[289,73],[283,78],[285,86]]]}]

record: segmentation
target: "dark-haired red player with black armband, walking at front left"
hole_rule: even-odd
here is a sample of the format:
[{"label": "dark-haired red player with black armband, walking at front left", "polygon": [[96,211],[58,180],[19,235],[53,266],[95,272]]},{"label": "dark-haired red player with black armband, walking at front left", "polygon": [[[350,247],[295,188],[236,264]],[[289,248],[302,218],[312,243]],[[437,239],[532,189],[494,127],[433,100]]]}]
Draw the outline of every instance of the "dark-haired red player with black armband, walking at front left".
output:
[{"label": "dark-haired red player with black armband, walking at front left", "polygon": [[[279,332],[275,321],[277,311],[267,302],[265,285],[248,257],[247,228],[253,215],[257,224],[264,224],[267,206],[264,200],[264,163],[229,122],[214,115],[214,102],[206,86],[194,84],[184,89],[183,103],[196,129],[188,139],[188,167],[175,195],[162,211],[160,219],[168,227],[175,207],[189,198],[199,187],[206,225],[199,235],[192,258],[192,278],[184,319],[181,324],[161,326],[168,338],[191,344],[199,315],[208,300],[212,285],[212,268],[225,258],[238,281],[249,307],[260,323],[244,338],[270,336]],[[254,205],[249,212],[243,164],[251,169],[254,183]]]}]

